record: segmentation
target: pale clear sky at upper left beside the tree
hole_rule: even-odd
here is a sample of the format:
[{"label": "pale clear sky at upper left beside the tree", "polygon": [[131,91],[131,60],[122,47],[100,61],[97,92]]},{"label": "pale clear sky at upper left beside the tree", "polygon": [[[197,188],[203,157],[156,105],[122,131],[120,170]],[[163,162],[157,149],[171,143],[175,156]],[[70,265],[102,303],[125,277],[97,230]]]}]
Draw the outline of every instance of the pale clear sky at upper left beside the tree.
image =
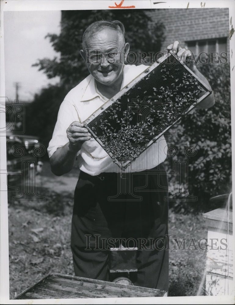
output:
[{"label": "pale clear sky at upper left beside the tree", "polygon": [[60,11],[5,11],[5,96],[16,98],[15,83],[19,82],[19,101],[32,101],[34,94],[59,78],[48,79],[38,67],[38,59],[60,56],[49,41],[48,33],[60,33]]}]

